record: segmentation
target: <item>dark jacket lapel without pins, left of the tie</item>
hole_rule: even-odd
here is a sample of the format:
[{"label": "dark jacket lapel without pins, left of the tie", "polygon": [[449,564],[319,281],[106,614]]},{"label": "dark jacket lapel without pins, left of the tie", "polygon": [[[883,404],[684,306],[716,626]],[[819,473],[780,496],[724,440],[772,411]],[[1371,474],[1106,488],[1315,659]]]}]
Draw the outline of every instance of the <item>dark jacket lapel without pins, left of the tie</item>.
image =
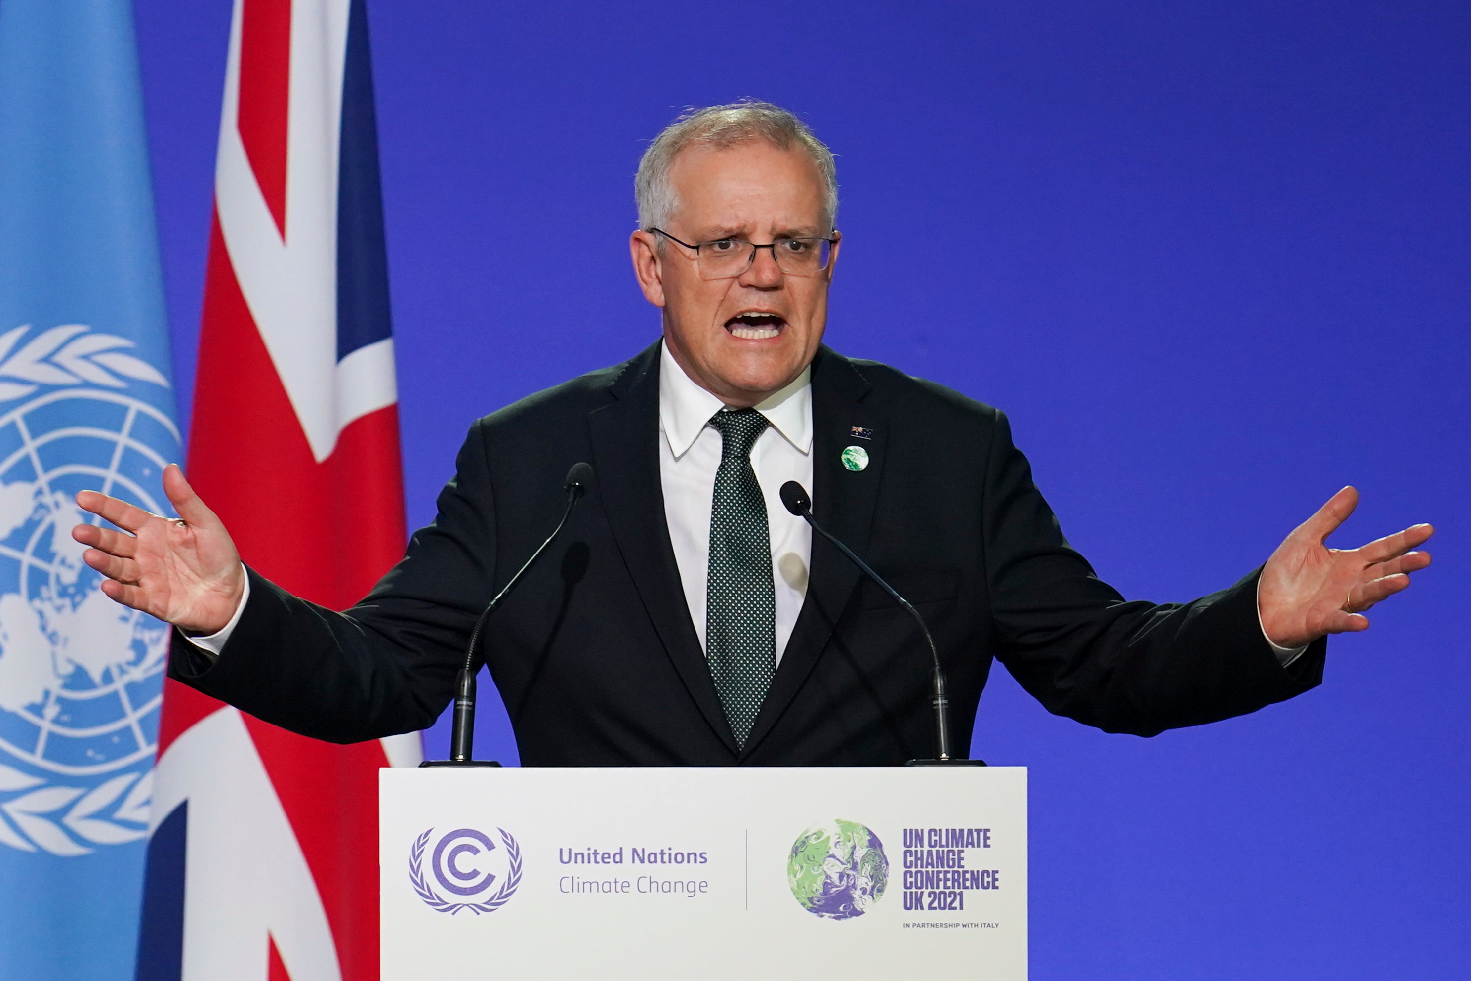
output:
[{"label": "dark jacket lapel without pins, left of the tie", "polygon": [[659,344],[628,362],[609,388],[615,402],[588,415],[599,496],[624,565],[663,649],[710,728],[736,753],[736,740],[690,621],[680,566],[669,543],[659,478]]}]

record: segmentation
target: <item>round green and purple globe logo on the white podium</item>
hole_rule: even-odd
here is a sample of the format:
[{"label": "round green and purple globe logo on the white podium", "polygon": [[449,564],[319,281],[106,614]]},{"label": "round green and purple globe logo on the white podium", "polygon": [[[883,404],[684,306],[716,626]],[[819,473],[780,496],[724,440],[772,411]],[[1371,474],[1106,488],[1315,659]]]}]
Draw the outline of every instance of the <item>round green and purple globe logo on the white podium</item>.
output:
[{"label": "round green and purple globe logo on the white podium", "polygon": [[852,919],[884,897],[888,857],[878,835],[856,821],[808,828],[787,857],[791,894],[813,916]]}]

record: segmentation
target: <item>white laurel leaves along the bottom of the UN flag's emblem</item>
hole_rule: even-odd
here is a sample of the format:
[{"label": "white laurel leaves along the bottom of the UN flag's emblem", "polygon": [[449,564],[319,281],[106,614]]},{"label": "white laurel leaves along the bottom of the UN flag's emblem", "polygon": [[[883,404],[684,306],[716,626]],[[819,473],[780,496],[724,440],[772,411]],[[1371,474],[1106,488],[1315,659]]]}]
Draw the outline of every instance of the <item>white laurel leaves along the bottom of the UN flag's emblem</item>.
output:
[{"label": "white laurel leaves along the bottom of the UN flag's emblem", "polygon": [[[153,772],[121,774],[97,787],[62,787],[0,763],[0,791],[25,791],[0,803],[0,843],[21,852],[90,855],[90,844],[124,844],[147,835]],[[131,790],[129,790],[131,787]],[[128,791],[122,803],[113,805]],[[104,813],[110,809],[110,815]],[[62,813],[65,812],[65,813]],[[56,815],[54,818],[51,815]]]}]

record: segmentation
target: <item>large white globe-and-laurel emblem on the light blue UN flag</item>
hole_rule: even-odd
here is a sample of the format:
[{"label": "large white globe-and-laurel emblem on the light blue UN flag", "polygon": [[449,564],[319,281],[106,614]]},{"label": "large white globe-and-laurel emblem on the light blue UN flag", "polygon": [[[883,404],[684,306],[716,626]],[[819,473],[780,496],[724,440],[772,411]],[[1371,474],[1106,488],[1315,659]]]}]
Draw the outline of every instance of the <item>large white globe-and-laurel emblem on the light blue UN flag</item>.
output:
[{"label": "large white globe-and-laurel emblem on the light blue UN flag", "polygon": [[147,834],[168,629],[109,600],[71,537],[97,521],[84,488],[168,507],[169,382],[132,346],[81,324],[0,334],[0,844],[22,852]]}]

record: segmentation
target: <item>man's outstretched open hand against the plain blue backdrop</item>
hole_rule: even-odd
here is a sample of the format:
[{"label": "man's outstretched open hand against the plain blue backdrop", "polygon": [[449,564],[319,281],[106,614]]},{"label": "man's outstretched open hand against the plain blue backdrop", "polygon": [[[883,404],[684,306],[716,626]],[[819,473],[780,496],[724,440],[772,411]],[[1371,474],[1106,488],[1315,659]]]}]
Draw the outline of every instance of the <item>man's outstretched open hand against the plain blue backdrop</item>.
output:
[{"label": "man's outstretched open hand against the plain blue backdrop", "polygon": [[1368,629],[1364,610],[1408,587],[1409,574],[1430,565],[1430,553],[1412,552],[1434,534],[1430,525],[1411,525],[1358,549],[1327,547],[1324,540],[1358,503],[1359,493],[1344,487],[1267,560],[1256,603],[1262,629],[1278,647],[1302,647],[1324,634]]}]

